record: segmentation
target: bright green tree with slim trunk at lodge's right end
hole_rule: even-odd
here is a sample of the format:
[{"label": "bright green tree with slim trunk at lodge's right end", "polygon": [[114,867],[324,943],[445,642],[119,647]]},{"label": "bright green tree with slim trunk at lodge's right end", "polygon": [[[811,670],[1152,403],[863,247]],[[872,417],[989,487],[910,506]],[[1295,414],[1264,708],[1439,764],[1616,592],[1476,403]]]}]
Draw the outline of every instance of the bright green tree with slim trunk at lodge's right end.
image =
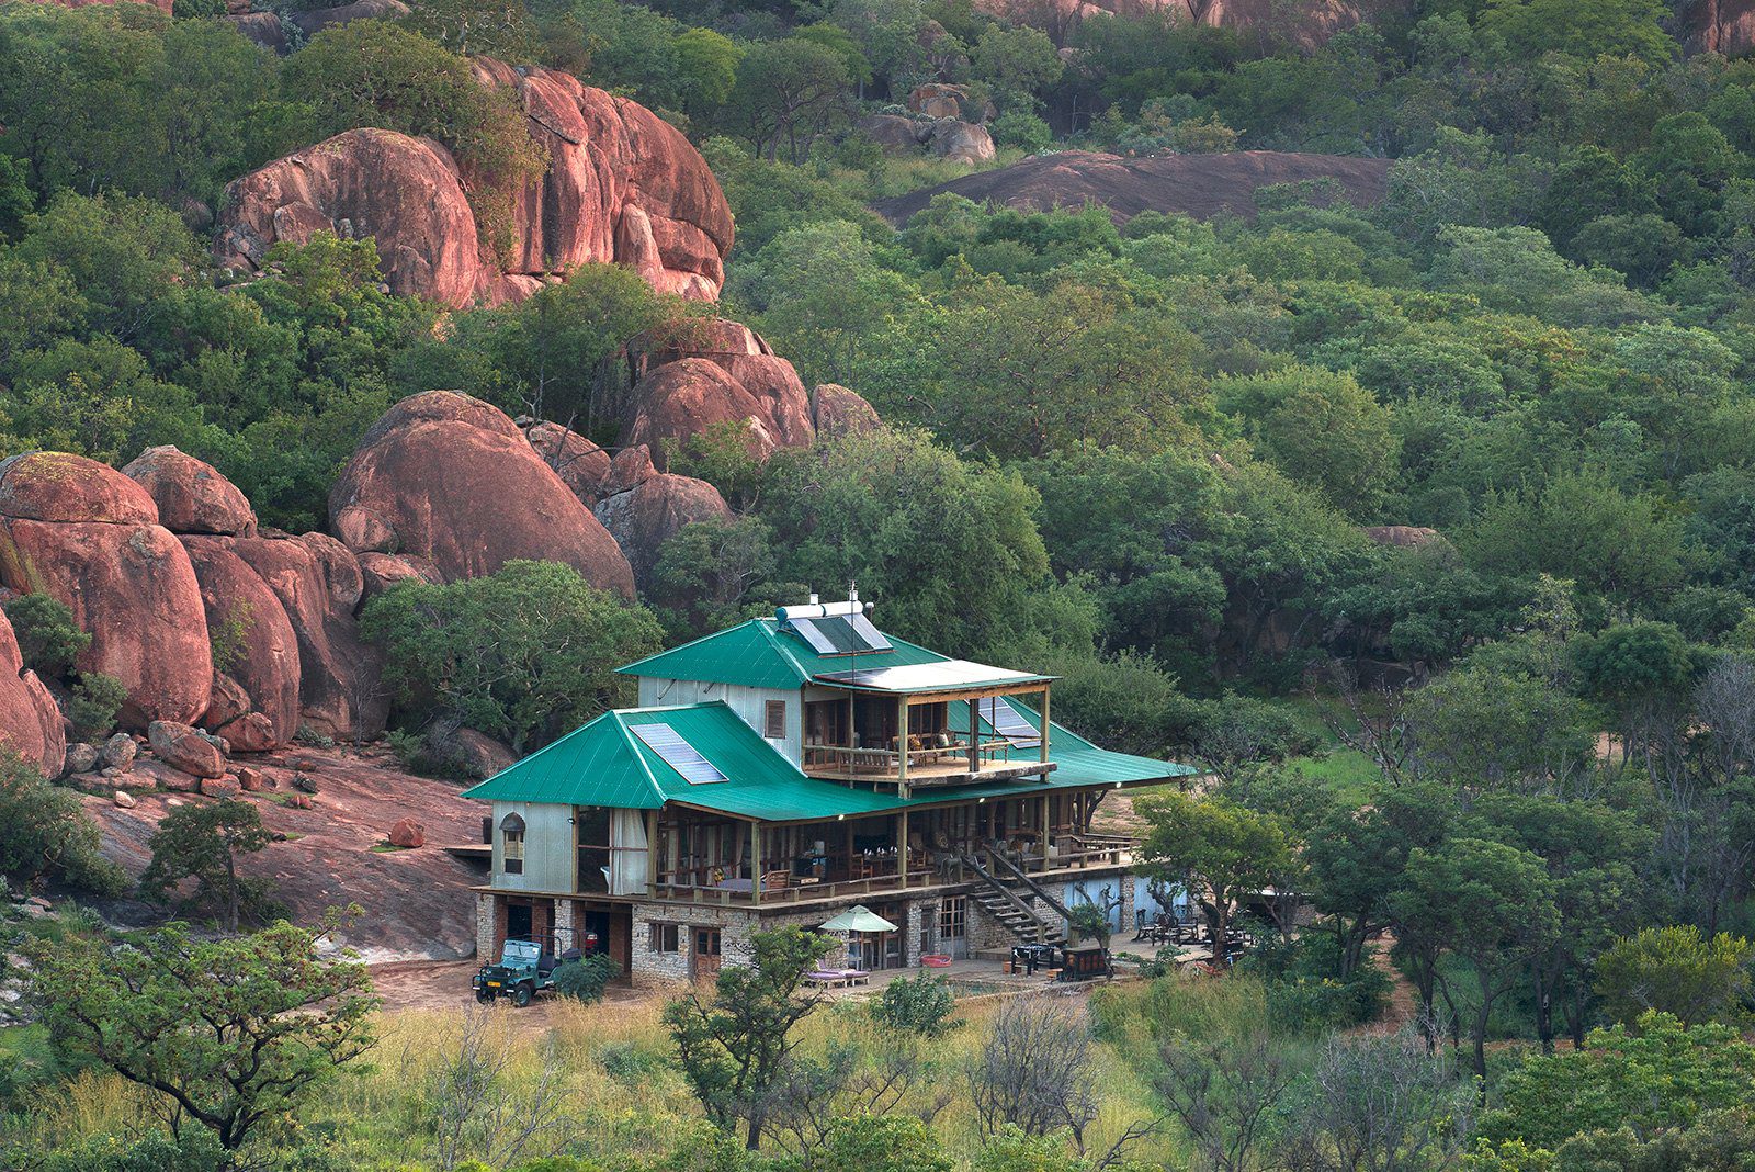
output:
[{"label": "bright green tree with slim trunk at lodge's right end", "polygon": [[1223,797],[1167,793],[1135,809],[1150,826],[1141,846],[1146,874],[1183,884],[1211,921],[1213,963],[1228,965],[1223,939],[1234,911],[1292,867],[1285,825]]}]

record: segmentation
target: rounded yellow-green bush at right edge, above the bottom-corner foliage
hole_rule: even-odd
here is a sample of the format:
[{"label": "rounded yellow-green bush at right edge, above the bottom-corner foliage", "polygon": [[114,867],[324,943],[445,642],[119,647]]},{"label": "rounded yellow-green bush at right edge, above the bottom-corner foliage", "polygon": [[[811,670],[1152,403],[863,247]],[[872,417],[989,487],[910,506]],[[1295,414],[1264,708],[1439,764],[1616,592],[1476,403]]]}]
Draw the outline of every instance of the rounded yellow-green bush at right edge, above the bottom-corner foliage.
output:
[{"label": "rounded yellow-green bush at right edge, above the bottom-corner foliage", "polygon": [[1694,925],[1641,928],[1597,958],[1602,1007],[1629,1026],[1653,1011],[1685,1026],[1737,1025],[1748,1019],[1751,993],[1755,944],[1727,932],[1704,937]]}]

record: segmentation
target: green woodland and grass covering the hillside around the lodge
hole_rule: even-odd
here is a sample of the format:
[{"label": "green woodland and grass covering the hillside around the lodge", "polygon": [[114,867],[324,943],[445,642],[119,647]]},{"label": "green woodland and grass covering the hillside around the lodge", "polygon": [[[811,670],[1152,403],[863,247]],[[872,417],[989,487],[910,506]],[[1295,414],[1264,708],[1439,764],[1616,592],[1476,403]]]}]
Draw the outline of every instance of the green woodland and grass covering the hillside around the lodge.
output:
[{"label": "green woodland and grass covering the hillside around the lodge", "polygon": [[[1165,890],[1214,916],[1302,890],[1318,919],[1260,923],[1197,979],[1116,937],[1150,979],[1088,1012],[956,1009],[930,981],[814,1007],[795,986],[821,944],[774,939],[716,1007],[579,1007],[541,1037],[376,1019],[363,968],[312,958],[333,925],[118,953],[97,919],[9,919],[35,1016],[0,1030],[0,1161],[1750,1167],[1755,61],[1685,58],[1658,0],[1432,0],[1320,47],[958,0],[430,0],[286,58],[219,7],[0,7],[4,453],[176,444],[298,532],[414,391],[611,442],[618,353],[700,307],[588,267],[442,312],[388,295],[370,240],[283,247],[240,284],[207,247],[230,179],[351,126],[528,174],[462,54],[572,70],[713,165],[737,216],[718,312],[890,426],[765,465],[700,437],[686,470],[737,519],[672,539],[637,607],[528,563],[386,595],[393,737],[439,711],[532,747],[627,700],[614,663],[856,579],[886,630],[1051,670],[1058,719],[1213,772],[1139,802]],[[897,230],[867,204],[963,168],[856,123],[923,81],[993,104],[995,165],[1365,154],[1388,195],[1120,228],[944,195]],[[472,200],[491,237],[504,191]],[[516,704],[451,670],[511,600],[600,632],[567,661],[541,632],[495,644]],[[53,614],[30,630],[39,667],[67,658]],[[4,772],[12,888],[116,895],[77,802]],[[267,925],[270,893],[225,877],[272,846],[179,830],[160,879],[202,884],[195,921]],[[212,1005],[225,1044],[167,1040]]]}]

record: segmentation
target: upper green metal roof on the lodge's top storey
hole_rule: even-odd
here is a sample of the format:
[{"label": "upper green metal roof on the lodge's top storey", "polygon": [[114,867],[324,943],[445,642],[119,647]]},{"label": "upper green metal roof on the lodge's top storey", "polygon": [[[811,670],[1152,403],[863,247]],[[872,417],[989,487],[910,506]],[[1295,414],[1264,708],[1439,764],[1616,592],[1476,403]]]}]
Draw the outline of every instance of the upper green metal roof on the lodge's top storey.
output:
[{"label": "upper green metal roof on the lodge's top storey", "polygon": [[890,644],[890,651],[862,651],[856,656],[818,654],[774,619],[749,619],[616,670],[623,675],[792,690],[804,688],[818,675],[855,667],[865,670],[949,660],[893,635]]}]

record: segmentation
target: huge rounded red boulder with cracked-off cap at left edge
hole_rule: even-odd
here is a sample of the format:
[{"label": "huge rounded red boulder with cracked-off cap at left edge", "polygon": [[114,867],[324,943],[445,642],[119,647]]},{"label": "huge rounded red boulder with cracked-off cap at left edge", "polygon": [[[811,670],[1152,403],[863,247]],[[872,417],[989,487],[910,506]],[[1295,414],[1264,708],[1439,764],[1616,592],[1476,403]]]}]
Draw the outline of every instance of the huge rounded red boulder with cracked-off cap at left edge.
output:
[{"label": "huge rounded red boulder with cracked-off cap at left edge", "polygon": [[200,584],[144,488],[63,453],[0,463],[0,584],[44,591],[91,633],[81,672],[128,688],[121,721],[193,721],[207,707],[212,658]]}]

